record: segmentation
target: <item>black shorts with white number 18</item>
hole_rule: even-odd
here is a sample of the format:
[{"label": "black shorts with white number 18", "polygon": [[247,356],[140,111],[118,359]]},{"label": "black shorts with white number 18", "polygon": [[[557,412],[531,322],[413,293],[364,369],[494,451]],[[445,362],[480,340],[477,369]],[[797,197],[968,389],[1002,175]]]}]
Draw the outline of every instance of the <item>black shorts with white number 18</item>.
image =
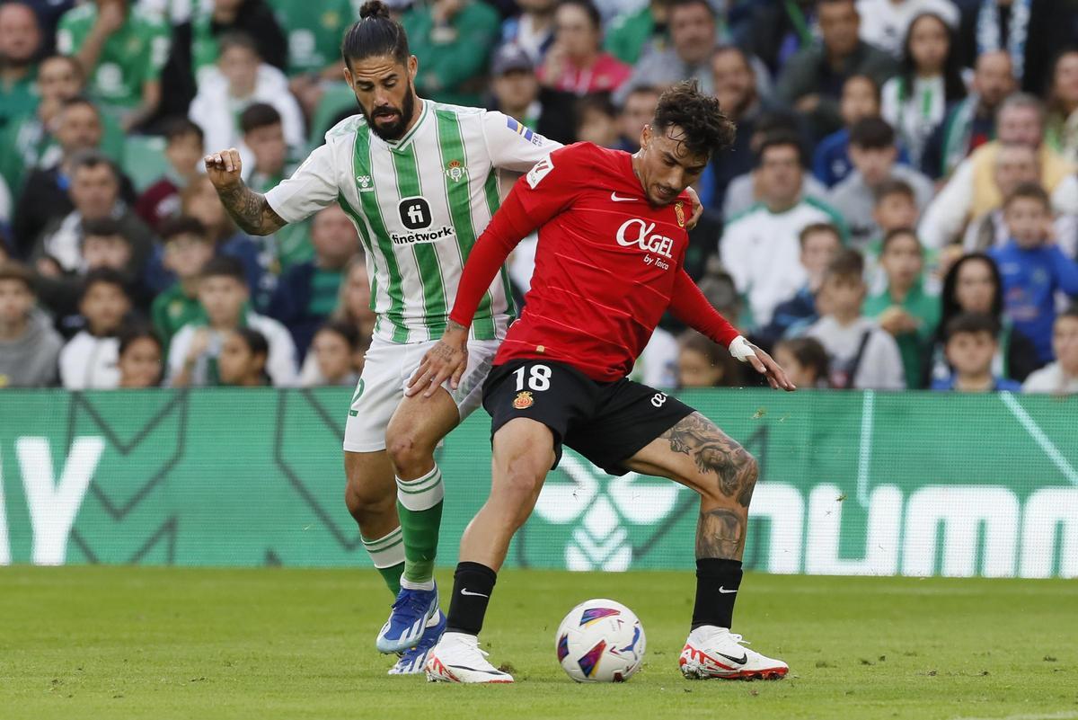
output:
[{"label": "black shorts with white number 18", "polygon": [[483,406],[493,418],[492,439],[506,423],[528,417],[554,433],[554,468],[564,443],[611,475],[628,472],[622,462],[693,412],[646,385],[598,383],[549,360],[496,365],[483,386]]}]

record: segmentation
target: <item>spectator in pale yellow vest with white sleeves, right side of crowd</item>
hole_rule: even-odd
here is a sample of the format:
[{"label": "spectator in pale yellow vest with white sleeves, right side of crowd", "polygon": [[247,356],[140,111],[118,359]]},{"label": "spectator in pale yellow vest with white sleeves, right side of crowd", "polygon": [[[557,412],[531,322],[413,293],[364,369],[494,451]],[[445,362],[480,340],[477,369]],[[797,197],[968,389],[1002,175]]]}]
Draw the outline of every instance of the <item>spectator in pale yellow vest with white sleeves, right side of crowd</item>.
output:
[{"label": "spectator in pale yellow vest with white sleeves, right side of crowd", "polygon": [[925,209],[921,240],[928,248],[942,248],[960,237],[970,218],[979,218],[1003,205],[994,179],[996,154],[1005,144],[1025,144],[1037,150],[1040,183],[1052,194],[1061,212],[1078,212],[1078,178],[1075,166],[1042,143],[1045,108],[1029,95],[1012,95],[999,107],[997,138],[978,148],[958,168]]}]

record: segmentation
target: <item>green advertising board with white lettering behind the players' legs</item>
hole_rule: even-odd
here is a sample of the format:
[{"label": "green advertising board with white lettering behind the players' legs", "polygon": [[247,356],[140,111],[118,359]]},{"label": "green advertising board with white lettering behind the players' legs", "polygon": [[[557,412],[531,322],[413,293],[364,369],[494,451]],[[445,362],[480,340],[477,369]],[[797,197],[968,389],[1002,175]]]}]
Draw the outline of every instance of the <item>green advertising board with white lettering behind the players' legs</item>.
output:
[{"label": "green advertising board with white lettering behind the players' legs", "polygon": [[[709,390],[760,461],[746,566],[1078,577],[1078,397]],[[343,501],[347,389],[0,393],[0,564],[368,566]],[[480,411],[439,451],[440,563],[489,485]],[[514,566],[692,568],[695,496],[566,452]]]}]

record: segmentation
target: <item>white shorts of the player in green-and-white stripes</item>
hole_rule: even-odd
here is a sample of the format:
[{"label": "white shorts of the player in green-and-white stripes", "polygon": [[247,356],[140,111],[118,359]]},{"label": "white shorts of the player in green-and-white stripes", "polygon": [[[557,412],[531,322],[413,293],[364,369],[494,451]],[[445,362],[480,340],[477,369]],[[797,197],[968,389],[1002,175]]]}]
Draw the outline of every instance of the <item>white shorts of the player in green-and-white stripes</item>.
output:
[{"label": "white shorts of the player in green-and-white stripes", "polygon": [[[345,452],[376,453],[386,448],[389,418],[404,399],[404,388],[423,356],[437,344],[438,341],[428,341],[401,345],[381,337],[371,342],[344,426]],[[452,390],[448,383],[442,385],[457,403],[461,420],[483,401],[483,383],[500,344],[499,340],[468,341],[468,369],[459,387]]]}]

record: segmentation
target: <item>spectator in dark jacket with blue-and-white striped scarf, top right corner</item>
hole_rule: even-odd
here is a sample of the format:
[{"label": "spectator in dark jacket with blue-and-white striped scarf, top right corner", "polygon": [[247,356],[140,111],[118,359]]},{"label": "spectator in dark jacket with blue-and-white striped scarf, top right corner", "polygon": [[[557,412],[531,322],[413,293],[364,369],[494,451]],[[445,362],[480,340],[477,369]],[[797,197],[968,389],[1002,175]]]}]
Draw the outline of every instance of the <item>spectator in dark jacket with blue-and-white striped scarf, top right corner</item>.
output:
[{"label": "spectator in dark jacket with blue-and-white striped scarf, top right corner", "polygon": [[1074,8],[1061,0],[978,0],[962,11],[963,65],[1007,51],[1022,89],[1034,95],[1044,93],[1052,58],[1074,41]]}]

